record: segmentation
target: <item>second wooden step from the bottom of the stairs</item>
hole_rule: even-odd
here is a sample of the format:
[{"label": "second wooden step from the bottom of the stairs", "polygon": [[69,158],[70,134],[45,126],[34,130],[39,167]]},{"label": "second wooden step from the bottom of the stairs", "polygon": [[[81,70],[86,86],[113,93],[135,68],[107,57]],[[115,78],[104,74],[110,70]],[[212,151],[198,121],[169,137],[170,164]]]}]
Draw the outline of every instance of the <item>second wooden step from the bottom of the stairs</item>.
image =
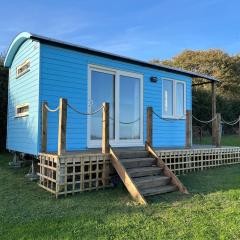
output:
[{"label": "second wooden step from the bottom of the stairs", "polygon": [[165,186],[170,184],[171,178],[166,176],[148,176],[148,177],[139,177],[133,178],[136,186],[141,190],[145,188],[154,188],[159,186]]}]

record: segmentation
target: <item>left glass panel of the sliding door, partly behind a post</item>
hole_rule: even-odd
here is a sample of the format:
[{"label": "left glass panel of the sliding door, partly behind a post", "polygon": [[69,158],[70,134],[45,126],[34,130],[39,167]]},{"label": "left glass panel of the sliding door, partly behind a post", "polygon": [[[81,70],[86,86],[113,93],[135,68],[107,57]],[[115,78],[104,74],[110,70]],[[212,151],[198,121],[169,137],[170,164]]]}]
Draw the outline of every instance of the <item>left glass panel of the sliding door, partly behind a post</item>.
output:
[{"label": "left glass panel of the sliding door, partly behind a post", "polygon": [[[91,111],[96,111],[103,102],[110,104],[110,139],[115,138],[115,76],[110,73],[91,71]],[[91,119],[91,140],[102,139],[102,111]]]}]

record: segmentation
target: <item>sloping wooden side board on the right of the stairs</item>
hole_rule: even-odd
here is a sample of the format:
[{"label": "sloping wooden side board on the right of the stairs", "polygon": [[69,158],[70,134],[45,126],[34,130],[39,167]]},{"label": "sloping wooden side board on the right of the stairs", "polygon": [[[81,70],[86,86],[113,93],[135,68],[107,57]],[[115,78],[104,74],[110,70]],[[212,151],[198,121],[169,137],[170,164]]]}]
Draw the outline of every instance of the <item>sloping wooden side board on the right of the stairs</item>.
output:
[{"label": "sloping wooden side board on the right of the stairs", "polygon": [[182,184],[182,182],[179,180],[179,178],[172,172],[172,170],[165,164],[165,162],[157,155],[153,147],[146,142],[145,143],[145,149],[150,153],[154,158],[157,160],[157,164],[160,168],[162,168],[163,173],[165,176],[171,178],[171,183],[175,185],[180,192],[189,194],[187,188]]}]

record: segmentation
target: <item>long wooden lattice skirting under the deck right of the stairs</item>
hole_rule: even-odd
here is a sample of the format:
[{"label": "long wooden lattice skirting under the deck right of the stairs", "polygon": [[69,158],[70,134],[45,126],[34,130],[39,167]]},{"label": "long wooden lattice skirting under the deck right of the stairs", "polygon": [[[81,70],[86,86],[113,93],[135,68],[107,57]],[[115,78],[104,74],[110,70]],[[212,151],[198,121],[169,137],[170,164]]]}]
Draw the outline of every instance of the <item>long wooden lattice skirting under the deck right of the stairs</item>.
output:
[{"label": "long wooden lattice skirting under the deck right of the stairs", "polygon": [[157,154],[177,175],[240,163],[240,147],[158,150]]}]

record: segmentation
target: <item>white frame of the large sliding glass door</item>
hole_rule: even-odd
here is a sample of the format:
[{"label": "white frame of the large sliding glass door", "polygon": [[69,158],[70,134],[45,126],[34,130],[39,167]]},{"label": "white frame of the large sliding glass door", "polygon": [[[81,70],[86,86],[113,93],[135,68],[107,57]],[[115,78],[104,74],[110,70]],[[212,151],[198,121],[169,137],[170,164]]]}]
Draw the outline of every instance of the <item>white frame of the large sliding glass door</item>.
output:
[{"label": "white frame of the large sliding glass door", "polygon": [[[115,75],[115,139],[110,140],[110,144],[113,147],[125,147],[125,146],[144,146],[143,143],[143,75],[141,73],[122,71],[115,68],[105,67],[101,65],[89,64],[88,65],[88,111],[91,111],[91,71],[98,71],[103,73],[110,73]],[[119,84],[120,75],[129,76],[140,79],[140,139],[122,140],[119,138]],[[91,140],[91,116],[88,116],[87,122],[87,145],[88,148],[101,147],[102,140]]]}]

